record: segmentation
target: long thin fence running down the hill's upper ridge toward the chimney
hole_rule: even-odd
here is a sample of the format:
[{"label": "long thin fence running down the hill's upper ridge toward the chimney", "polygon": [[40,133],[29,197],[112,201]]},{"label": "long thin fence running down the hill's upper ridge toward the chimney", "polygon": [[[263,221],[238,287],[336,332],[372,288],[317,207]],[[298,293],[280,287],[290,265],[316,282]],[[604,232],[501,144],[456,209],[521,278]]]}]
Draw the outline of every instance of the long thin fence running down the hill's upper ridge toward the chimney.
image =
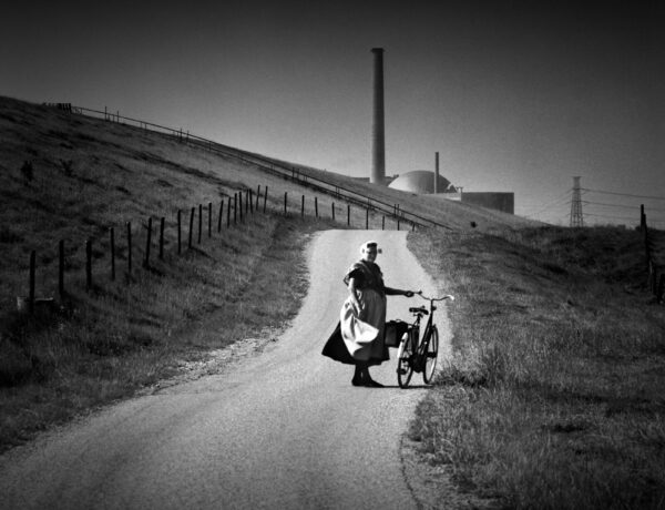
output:
[{"label": "long thin fence running down the hill's upper ridge toward the chimney", "polygon": [[[69,104],[69,103],[68,103]],[[64,109],[66,110],[66,109]],[[299,183],[303,186],[311,187],[320,193],[326,193],[331,195],[338,200],[345,200],[351,204],[357,206],[367,206],[372,211],[378,213],[388,215],[395,220],[398,217],[402,222],[409,222],[415,224],[418,227],[427,227],[434,226],[444,230],[452,230],[449,225],[444,225],[442,223],[436,222],[430,218],[426,218],[419,214],[412,213],[408,210],[405,210],[401,204],[389,204],[387,202],[380,201],[378,198],[372,198],[369,195],[360,193],[356,190],[348,188],[346,186],[331,183],[320,177],[315,177],[311,175],[307,175],[303,173],[300,170],[295,166],[289,166],[285,163],[277,162],[269,157],[262,156],[259,154],[255,154],[248,151],[243,151],[241,149],[231,147],[227,145],[223,145],[221,143],[214,142],[208,139],[204,139],[202,136],[197,136],[195,134],[190,133],[188,131],[183,131],[182,129],[176,130],[173,128],[155,124],[152,122],[142,121],[139,119],[132,119],[129,116],[123,116],[120,114],[120,111],[115,113],[109,112],[106,108],[104,111],[92,110],[83,106],[73,106],[70,105],[70,110],[73,113],[79,113],[88,116],[99,116],[103,118],[109,122],[117,122],[127,123],[130,125],[136,125],[137,128],[145,131],[153,131],[162,134],[166,134],[170,136],[176,137],[180,142],[192,144],[205,149],[209,152],[214,152],[221,155],[235,157],[242,162],[250,163],[258,166],[260,170],[272,173],[274,175],[278,175],[283,178],[291,180],[294,182]]]}]

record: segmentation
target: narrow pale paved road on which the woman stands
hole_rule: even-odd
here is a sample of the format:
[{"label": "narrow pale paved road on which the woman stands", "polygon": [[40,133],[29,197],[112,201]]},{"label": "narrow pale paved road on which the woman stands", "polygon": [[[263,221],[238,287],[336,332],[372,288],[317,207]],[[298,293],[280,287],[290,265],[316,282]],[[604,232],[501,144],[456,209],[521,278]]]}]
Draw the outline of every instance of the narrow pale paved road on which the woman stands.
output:
[{"label": "narrow pale paved road on which the woman stands", "polygon": [[[221,375],[106,408],[0,458],[2,508],[416,508],[400,437],[423,395],[350,385],[352,367],[320,355],[358,246],[379,242],[389,286],[436,293],[405,232],[327,231],[309,248],[311,285],[279,341]],[[418,297],[388,298],[408,319]],[[444,313],[439,359],[448,349]]]}]

